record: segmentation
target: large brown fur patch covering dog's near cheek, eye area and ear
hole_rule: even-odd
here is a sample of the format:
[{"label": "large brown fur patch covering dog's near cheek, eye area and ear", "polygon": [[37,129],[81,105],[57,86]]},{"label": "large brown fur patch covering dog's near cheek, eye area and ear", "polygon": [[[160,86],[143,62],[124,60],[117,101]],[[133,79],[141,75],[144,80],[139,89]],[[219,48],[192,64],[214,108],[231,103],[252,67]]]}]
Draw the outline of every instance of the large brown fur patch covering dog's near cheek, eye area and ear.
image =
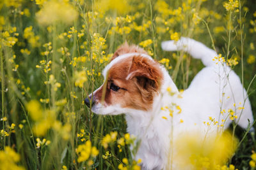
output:
[{"label": "large brown fur patch covering dog's near cheek, eye area and ear", "polygon": [[[152,109],[154,96],[159,92],[162,80],[160,64],[155,60],[140,55],[127,57],[109,69],[104,103],[148,111]],[[111,85],[120,89],[115,91]],[[97,101],[100,101],[102,92],[103,87],[95,93]]]}]

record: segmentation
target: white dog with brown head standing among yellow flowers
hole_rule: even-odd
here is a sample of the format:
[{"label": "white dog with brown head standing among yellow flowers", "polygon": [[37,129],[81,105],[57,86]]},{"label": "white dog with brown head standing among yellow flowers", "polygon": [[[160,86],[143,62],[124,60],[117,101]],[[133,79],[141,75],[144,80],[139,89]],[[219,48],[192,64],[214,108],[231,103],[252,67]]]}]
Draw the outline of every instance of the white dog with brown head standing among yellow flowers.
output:
[{"label": "white dog with brown head standing among yellow flowers", "polygon": [[84,101],[96,114],[125,114],[127,132],[140,141],[134,159],[142,160],[142,169],[167,169],[172,138],[192,129],[206,132],[209,117],[217,124],[211,129],[215,132],[227,129],[230,112],[244,129],[253,122],[239,76],[214,50],[190,38],[164,41],[161,46],[187,52],[205,66],[182,94],[164,66],[142,48],[125,43],[103,70],[102,86]]}]

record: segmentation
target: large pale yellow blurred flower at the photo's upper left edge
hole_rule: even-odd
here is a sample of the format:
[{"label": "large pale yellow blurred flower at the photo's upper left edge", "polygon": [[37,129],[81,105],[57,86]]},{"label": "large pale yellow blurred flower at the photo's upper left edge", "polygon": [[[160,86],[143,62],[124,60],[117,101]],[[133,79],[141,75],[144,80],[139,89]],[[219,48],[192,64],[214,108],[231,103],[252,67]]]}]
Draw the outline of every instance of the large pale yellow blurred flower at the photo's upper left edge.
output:
[{"label": "large pale yellow blurred flower at the photo's upper left edge", "polygon": [[56,22],[69,25],[77,17],[78,13],[74,7],[68,1],[61,0],[46,1],[42,9],[36,13],[36,18],[41,25],[51,25],[56,24]]}]

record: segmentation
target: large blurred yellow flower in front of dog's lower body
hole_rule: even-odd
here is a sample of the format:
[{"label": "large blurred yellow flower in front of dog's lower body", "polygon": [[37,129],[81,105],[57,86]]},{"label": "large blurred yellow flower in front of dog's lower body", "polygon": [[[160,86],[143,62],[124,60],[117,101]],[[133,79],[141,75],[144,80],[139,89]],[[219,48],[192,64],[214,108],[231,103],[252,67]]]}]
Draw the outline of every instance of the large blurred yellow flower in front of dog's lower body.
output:
[{"label": "large blurred yellow flower in front of dog's lower body", "polygon": [[180,162],[178,169],[215,169],[216,166],[225,166],[234,155],[237,139],[229,132],[221,136],[207,134],[207,138],[200,132],[189,132],[179,136],[174,145],[177,152],[173,157]]}]

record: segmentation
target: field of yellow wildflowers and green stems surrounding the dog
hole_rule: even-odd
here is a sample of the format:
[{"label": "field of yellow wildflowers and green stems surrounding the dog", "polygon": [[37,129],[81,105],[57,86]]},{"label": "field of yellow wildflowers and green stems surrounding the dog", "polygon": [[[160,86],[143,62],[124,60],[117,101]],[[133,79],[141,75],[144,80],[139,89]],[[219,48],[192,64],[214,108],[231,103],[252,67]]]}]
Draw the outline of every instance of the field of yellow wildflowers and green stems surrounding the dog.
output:
[{"label": "field of yellow wildflowers and green stems surrounding the dog", "polygon": [[[1,0],[0,169],[140,169],[124,116],[95,115],[83,100],[125,41],[145,48],[186,89],[202,63],[160,46],[180,36],[222,54],[256,113],[253,0]],[[230,129],[236,154],[215,169],[255,169],[255,136]]]}]

